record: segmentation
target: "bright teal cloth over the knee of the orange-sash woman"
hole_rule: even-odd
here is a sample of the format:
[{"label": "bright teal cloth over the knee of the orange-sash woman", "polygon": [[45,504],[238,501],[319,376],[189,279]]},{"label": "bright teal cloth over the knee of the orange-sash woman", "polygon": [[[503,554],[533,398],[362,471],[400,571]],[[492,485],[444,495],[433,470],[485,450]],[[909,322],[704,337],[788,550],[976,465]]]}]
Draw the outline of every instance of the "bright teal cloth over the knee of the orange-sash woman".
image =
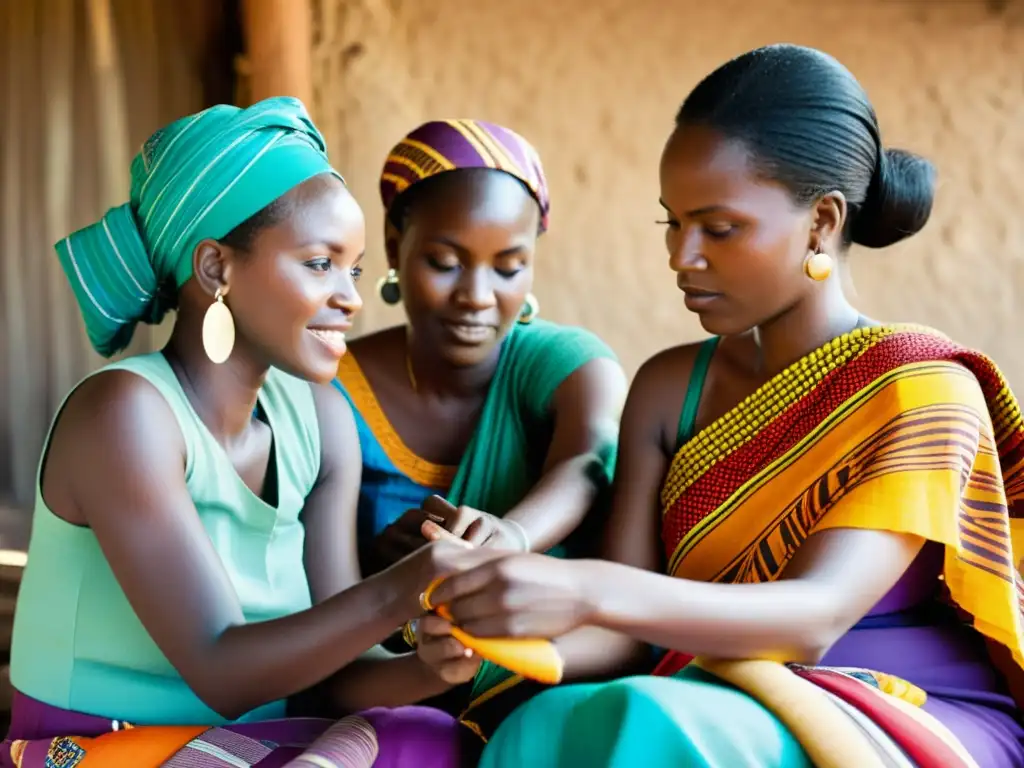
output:
[{"label": "bright teal cloth over the knee of the orange-sash woman", "polygon": [[813,768],[779,720],[703,670],[565,685],[499,726],[480,768]]}]

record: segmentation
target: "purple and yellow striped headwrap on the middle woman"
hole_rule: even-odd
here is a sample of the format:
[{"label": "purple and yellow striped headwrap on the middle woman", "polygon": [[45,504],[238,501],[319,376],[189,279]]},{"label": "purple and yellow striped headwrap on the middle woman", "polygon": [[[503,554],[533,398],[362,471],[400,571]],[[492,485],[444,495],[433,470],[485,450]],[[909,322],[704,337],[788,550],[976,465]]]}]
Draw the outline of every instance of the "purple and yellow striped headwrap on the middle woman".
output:
[{"label": "purple and yellow striped headwrap on the middle woman", "polygon": [[461,168],[494,168],[515,176],[541,207],[541,231],[548,228],[551,200],[537,150],[515,131],[482,120],[434,120],[395,144],[381,172],[384,210],[417,181]]}]

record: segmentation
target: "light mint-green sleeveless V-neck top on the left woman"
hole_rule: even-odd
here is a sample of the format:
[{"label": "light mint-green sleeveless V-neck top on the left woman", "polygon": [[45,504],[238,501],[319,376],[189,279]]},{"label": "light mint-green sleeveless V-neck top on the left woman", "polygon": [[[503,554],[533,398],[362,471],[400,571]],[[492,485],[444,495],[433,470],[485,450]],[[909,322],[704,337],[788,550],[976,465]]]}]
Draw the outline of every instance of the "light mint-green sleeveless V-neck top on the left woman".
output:
[{"label": "light mint-green sleeveless V-neck top on the left woman", "polygon": [[[259,393],[273,431],[274,509],[239,477],[161,353],[102,370],[118,369],[152,383],[173,410],[187,450],[188,492],[246,620],[262,622],[308,608],[299,513],[318,474],[321,455],[309,384],[271,370]],[[142,628],[92,531],[50,512],[38,479],[29,562],[14,615],[11,683],[45,703],[99,717],[138,724],[224,723],[193,693]],[[278,701],[242,719],[282,717],[284,712],[284,701]]]}]

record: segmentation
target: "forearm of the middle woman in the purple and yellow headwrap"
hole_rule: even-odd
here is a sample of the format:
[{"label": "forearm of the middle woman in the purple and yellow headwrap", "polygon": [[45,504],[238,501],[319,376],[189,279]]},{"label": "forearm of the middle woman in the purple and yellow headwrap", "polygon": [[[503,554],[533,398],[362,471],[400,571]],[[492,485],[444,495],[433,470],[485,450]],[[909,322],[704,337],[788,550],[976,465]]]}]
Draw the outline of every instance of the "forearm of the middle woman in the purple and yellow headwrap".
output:
[{"label": "forearm of the middle woman in the purple and yellow headwrap", "polygon": [[604,467],[597,454],[582,454],[551,467],[505,518],[529,537],[530,550],[544,552],[575,530],[590,512],[602,485]]}]

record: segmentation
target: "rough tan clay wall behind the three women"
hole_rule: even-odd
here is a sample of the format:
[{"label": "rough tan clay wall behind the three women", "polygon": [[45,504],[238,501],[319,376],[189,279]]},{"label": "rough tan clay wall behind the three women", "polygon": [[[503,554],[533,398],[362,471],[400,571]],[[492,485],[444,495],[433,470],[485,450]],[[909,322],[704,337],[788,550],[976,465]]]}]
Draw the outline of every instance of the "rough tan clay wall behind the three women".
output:
[{"label": "rough tan clay wall behind the three women", "polygon": [[387,150],[423,120],[475,117],[522,132],[550,175],[536,291],[546,316],[600,333],[631,373],[698,338],[653,223],[662,145],[702,75],[744,49],[794,42],[846,63],[885,141],[931,157],[941,174],[922,234],[851,254],[857,303],[980,347],[1024,393],[1017,0],[321,0],[316,14],[314,109],[371,227],[365,330],[400,319],[373,292]]}]

